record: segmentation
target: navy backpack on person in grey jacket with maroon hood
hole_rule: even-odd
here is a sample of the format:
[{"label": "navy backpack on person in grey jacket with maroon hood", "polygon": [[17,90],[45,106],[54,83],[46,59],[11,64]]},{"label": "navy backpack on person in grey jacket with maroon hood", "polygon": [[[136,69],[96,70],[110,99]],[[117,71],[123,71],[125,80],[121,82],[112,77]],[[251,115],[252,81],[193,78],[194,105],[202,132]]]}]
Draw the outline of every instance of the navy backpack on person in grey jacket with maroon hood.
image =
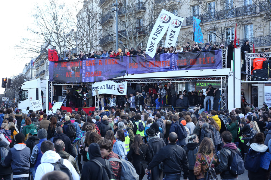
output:
[{"label": "navy backpack on person in grey jacket with maroon hood", "polygon": [[245,162],[242,158],[242,155],[239,152],[237,152],[238,150],[235,151],[230,148],[226,148],[226,149],[229,149],[232,152],[230,161],[229,161],[229,172],[233,176],[238,176],[245,173]]}]

